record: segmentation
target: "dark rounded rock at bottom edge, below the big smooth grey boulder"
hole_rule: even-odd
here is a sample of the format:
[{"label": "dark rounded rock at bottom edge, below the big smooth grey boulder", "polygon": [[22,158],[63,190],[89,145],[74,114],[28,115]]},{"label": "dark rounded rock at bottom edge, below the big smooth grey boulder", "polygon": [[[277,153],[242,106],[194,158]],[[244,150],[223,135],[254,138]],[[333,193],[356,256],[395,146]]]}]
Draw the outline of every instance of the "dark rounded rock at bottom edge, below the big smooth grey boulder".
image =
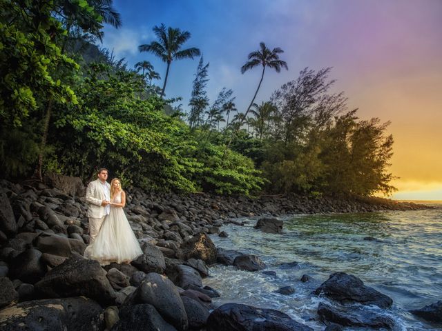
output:
[{"label": "dark rounded rock at bottom edge, below the big smooth grey boulder", "polygon": [[153,305],[143,303],[129,305],[119,310],[119,321],[113,325],[112,331],[176,331],[172,325],[164,321]]}]

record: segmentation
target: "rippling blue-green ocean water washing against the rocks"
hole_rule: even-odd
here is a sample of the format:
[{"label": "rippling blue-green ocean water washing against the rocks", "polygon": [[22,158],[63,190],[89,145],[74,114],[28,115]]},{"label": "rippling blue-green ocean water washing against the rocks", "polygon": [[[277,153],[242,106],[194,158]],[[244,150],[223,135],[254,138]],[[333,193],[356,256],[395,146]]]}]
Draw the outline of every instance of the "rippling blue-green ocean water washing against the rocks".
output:
[{"label": "rippling blue-green ocean water washing against the rocks", "polygon": [[[386,314],[395,321],[394,330],[442,330],[408,312],[442,300],[442,205],[432,210],[361,214],[315,214],[280,217],[283,234],[267,234],[253,229],[257,218],[241,219],[244,226],[224,225],[228,238],[211,235],[218,248],[258,255],[267,265],[263,272],[236,270],[216,265],[204,285],[217,289],[221,298],[215,305],[244,303],[273,308],[291,318],[324,330],[316,320],[318,303],[336,305],[311,294],[334,272],[347,272],[387,294],[392,308],[368,309]],[[373,237],[375,240],[364,240]],[[298,262],[288,267],[282,263]],[[263,270],[263,271],[265,271]],[[312,281],[302,283],[302,274]],[[289,296],[275,293],[291,285]],[[345,328],[345,330],[365,330]]]}]

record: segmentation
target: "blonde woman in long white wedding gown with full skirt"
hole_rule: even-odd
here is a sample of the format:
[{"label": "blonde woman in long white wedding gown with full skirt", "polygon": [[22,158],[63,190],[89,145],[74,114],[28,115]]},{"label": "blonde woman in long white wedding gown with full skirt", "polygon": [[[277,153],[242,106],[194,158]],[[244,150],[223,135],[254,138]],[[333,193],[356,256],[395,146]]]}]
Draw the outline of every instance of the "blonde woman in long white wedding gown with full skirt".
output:
[{"label": "blonde woman in long white wedding gown with full skirt", "polygon": [[84,257],[108,265],[111,262],[129,263],[143,254],[124,214],[125,204],[126,193],[119,179],[114,178],[111,181],[111,213],[104,219],[95,241],[84,251]]}]

